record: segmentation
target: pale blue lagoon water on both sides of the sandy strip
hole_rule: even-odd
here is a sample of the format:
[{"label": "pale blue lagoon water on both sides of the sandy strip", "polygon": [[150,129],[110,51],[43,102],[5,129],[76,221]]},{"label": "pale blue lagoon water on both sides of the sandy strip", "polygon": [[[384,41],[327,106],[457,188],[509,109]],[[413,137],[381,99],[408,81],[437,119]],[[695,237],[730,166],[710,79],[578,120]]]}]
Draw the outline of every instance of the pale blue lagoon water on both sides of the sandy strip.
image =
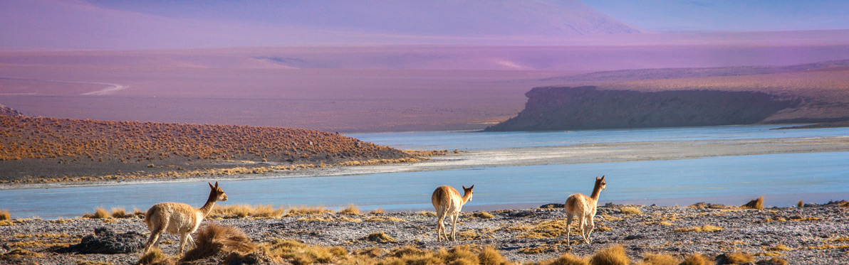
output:
[{"label": "pale blue lagoon water on both sides of the sandy strip", "polygon": [[[771,127],[725,126],[571,133],[416,132],[356,136],[364,141],[400,148],[479,149],[503,145],[568,145],[588,141],[688,141],[849,135],[849,129],[846,128],[768,128]],[[459,143],[465,145],[458,146]],[[453,185],[459,189],[460,185],[475,185],[474,199],[464,207],[475,209],[562,203],[571,193],[589,193],[594,177],[602,174],[607,175],[608,181],[608,189],[601,195],[602,202],[639,201],[645,204],[686,205],[694,200],[708,198],[709,202],[743,204],[756,196],[767,195],[767,205],[787,207],[795,205],[797,200],[827,202],[849,199],[849,152],[257,179],[222,181],[220,185],[230,199],[222,204],[344,207],[353,203],[365,210],[377,207],[387,210],[432,210],[430,193],[436,186]],[[209,187],[205,182],[0,190],[0,208],[8,209],[15,218],[66,218],[91,213],[94,207],[127,207],[127,210],[138,207],[145,210],[156,202],[185,202],[199,207],[208,193]]]}]

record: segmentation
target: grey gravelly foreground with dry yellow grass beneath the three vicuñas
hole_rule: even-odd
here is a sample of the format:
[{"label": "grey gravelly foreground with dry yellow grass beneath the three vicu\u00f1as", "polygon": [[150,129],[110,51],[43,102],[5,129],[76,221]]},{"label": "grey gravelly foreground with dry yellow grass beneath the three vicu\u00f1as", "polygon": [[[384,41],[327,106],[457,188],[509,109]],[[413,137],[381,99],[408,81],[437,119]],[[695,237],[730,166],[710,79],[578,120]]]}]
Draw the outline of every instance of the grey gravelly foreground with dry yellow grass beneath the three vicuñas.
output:
[{"label": "grey gravelly foreground with dry yellow grass beneath the three vicu\u00f1as", "polygon": [[[849,208],[836,204],[761,210],[621,205],[598,209],[592,244],[582,243],[572,234],[571,246],[565,241],[562,208],[503,210],[490,212],[492,218],[482,212],[463,213],[456,242],[436,241],[436,217],[432,212],[322,213],[283,218],[211,219],[205,223],[237,227],[256,243],[280,238],[311,245],[343,246],[349,250],[374,246],[385,249],[494,246],[513,262],[537,262],[567,252],[589,255],[613,245],[624,246],[634,261],[658,252],[682,256],[701,253],[709,257],[745,252],[754,255],[756,260],[780,257],[791,264],[835,264],[849,260]],[[141,256],[140,251],[82,254],[78,249],[65,246],[79,243],[100,227],[118,233],[138,232],[144,236],[148,232],[140,218],[0,222],[3,222],[0,262],[133,263]],[[393,240],[380,243],[367,239],[369,234],[376,232],[384,232]],[[177,236],[166,235],[166,241],[160,246],[166,254],[174,255],[176,242]],[[19,248],[24,251],[16,250]]]}]

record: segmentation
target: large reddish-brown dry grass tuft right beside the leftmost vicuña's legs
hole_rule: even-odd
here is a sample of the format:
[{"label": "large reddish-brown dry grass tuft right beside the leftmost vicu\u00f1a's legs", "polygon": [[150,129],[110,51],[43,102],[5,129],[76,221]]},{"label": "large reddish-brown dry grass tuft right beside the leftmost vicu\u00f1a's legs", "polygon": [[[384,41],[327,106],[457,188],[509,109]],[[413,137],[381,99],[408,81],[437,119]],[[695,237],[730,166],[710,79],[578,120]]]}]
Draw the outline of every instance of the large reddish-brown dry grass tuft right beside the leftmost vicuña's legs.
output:
[{"label": "large reddish-brown dry grass tuft right beside the leftmost vicu\u00f1a's legs", "polygon": [[196,246],[186,252],[180,262],[211,257],[218,253],[231,251],[250,253],[256,250],[256,245],[250,241],[245,232],[233,226],[220,224],[206,224],[198,229],[194,242]]}]

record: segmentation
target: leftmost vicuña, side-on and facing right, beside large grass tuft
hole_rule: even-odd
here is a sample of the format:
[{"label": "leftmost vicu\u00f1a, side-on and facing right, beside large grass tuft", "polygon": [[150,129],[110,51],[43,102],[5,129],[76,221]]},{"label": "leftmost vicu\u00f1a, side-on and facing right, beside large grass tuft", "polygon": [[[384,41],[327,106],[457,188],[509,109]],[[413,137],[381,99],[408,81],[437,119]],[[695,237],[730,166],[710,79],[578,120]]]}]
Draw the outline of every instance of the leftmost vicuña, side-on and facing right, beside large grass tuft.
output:
[{"label": "leftmost vicu\u00f1a, side-on and facing right, beside large grass tuft", "polygon": [[144,223],[148,224],[150,237],[147,245],[144,246],[143,253],[147,253],[150,247],[159,244],[160,235],[164,231],[180,235],[180,248],[177,250],[177,254],[183,254],[183,247],[186,246],[187,240],[194,246],[192,235],[189,234],[198,229],[200,222],[212,211],[212,206],[215,205],[216,201],[227,201],[227,195],[224,194],[224,190],[218,187],[217,181],[215,186],[209,182],[207,184],[210,185],[212,190],[209,199],[206,199],[206,203],[200,209],[179,202],[160,202],[150,207],[148,213],[144,214]]}]

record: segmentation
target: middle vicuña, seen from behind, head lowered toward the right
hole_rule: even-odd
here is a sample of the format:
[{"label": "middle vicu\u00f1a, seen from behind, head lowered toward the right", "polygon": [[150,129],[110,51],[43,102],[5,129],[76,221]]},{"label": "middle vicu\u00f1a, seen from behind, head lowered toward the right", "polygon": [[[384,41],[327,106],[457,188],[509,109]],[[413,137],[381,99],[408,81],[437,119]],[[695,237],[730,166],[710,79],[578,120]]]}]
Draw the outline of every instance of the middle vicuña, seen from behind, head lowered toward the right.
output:
[{"label": "middle vicu\u00f1a, seen from behind, head lowered toward the right", "polygon": [[445,220],[446,214],[451,218],[452,223],[451,240],[457,240],[457,237],[455,236],[455,232],[457,231],[457,218],[460,215],[460,209],[463,205],[472,200],[472,189],[474,188],[475,185],[468,188],[463,186],[463,197],[460,197],[460,193],[450,186],[439,186],[436,190],[433,190],[433,196],[430,196],[430,202],[432,202],[433,207],[436,208],[436,219],[439,220],[439,224],[436,229],[436,240],[441,241],[443,234],[445,235],[445,240],[448,240],[445,225],[442,224]]}]

